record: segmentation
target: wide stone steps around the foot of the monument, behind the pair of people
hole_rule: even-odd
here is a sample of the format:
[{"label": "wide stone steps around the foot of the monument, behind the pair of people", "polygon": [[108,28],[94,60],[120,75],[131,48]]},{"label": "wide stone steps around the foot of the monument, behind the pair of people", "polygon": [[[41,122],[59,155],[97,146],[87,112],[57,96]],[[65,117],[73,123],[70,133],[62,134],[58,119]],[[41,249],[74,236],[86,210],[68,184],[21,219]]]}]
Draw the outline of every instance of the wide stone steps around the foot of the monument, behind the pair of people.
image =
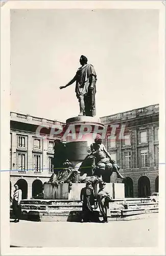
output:
[{"label": "wide stone steps around the foot of the monument, behind the pair of people", "polygon": [[[123,203],[123,205],[122,205]],[[109,204],[109,220],[127,220],[158,212],[158,203],[149,199],[130,198],[113,200]],[[80,221],[82,203],[80,200],[21,200],[22,219],[33,221]],[[12,209],[10,210],[12,217]],[[135,216],[135,217],[134,217]],[[94,217],[102,219],[99,207]]]}]

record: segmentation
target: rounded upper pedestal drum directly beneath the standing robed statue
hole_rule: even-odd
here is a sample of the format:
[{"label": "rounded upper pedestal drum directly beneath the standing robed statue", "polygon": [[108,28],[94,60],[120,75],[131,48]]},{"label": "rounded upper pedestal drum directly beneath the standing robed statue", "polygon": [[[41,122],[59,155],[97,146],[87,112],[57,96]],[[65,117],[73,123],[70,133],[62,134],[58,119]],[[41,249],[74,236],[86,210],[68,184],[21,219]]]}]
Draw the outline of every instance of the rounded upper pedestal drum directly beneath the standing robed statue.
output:
[{"label": "rounded upper pedestal drum directly beneath the standing robed statue", "polygon": [[101,136],[100,131],[103,130],[104,124],[96,117],[77,116],[66,120],[66,150],[74,169],[78,170],[85,157],[91,153],[90,144],[97,136]]}]

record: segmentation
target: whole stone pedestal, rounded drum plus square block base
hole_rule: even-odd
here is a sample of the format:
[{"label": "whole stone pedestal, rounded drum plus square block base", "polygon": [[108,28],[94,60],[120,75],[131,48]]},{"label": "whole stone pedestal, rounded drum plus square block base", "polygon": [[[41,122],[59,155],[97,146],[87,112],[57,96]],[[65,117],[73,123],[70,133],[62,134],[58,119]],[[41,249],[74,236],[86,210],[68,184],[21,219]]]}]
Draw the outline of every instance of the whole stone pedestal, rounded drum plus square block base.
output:
[{"label": "whole stone pedestal, rounded drum plus square block base", "polygon": [[[64,136],[66,139],[67,159],[72,163],[72,167],[78,170],[83,160],[91,153],[90,145],[94,143],[96,137],[101,137],[104,124],[100,123],[97,117],[77,116],[66,120]],[[108,174],[109,176],[109,174]],[[79,174],[73,181],[72,189],[69,190],[68,183],[44,184],[44,199],[67,199],[80,200],[80,192],[85,183],[75,183],[79,179]],[[116,184],[117,175],[107,177],[106,189],[113,199],[125,197],[124,184]],[[97,196],[99,184],[94,185],[94,194]]]}]

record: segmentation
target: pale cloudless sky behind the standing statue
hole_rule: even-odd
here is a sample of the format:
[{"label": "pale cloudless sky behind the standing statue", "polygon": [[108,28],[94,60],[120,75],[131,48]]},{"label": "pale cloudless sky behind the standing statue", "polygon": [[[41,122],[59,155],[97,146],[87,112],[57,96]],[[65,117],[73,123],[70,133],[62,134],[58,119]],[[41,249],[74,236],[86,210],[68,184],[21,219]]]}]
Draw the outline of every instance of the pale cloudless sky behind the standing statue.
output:
[{"label": "pale cloudless sky behind the standing statue", "polygon": [[158,11],[11,10],[11,111],[65,121],[79,114],[75,84],[87,56],[97,116],[159,103]]}]

